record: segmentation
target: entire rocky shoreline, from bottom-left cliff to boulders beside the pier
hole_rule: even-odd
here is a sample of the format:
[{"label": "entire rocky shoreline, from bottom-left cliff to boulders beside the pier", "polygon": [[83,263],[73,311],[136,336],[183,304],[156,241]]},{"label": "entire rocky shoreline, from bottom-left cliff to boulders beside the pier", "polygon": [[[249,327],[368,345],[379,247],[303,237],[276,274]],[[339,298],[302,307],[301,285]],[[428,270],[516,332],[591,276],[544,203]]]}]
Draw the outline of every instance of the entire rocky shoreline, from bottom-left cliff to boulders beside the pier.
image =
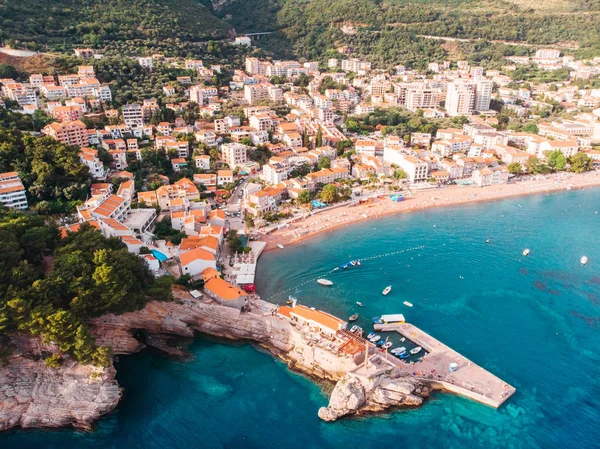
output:
[{"label": "entire rocky shoreline, from bottom-left cliff to boulders beside the pier", "polygon": [[[112,347],[115,355],[133,354],[146,347],[136,338],[140,332],[151,337],[148,344],[174,354],[180,352],[169,350],[168,338],[193,337],[197,332],[256,343],[290,369],[316,380],[337,382],[329,406],[318,412],[326,421],[390,407],[418,406],[430,391],[423,382],[393,369],[366,377],[318,366],[297,348],[290,323],[273,313],[241,314],[180,297],[174,302],[150,302],[136,312],[101,316],[90,324],[97,343]],[[52,369],[41,357],[50,347],[39,339],[17,335],[13,343],[17,351],[0,367],[0,431],[16,427],[90,429],[119,403],[122,391],[112,365],[95,368],[66,358],[60,368]]]}]

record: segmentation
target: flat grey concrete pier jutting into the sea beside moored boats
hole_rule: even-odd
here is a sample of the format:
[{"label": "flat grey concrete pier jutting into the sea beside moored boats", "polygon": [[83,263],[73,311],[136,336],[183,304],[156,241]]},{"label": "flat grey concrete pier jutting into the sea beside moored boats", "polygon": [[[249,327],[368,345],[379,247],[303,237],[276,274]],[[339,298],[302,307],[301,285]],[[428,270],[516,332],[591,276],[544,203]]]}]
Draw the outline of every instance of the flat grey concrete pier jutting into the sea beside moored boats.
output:
[{"label": "flat grey concrete pier jutting into the sea beside moored boats", "polygon": [[[412,324],[376,324],[374,327],[376,331],[398,332],[428,352],[415,364],[404,363],[383,351],[381,354],[407,374],[429,382],[433,388],[451,391],[494,408],[500,407],[515,392],[513,386]],[[452,362],[457,364],[457,369],[449,372]]]}]

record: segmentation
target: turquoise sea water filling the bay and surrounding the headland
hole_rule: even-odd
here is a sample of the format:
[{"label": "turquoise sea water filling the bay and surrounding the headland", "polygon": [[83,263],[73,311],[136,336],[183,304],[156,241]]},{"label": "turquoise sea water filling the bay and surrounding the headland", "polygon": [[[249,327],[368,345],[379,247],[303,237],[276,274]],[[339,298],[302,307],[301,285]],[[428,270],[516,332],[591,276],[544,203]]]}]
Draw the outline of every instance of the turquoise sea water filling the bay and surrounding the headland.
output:
[{"label": "turquoise sea water filling the bay and surrounding the headland", "polygon": [[190,362],[122,358],[125,396],[94,432],[17,431],[0,435],[0,448],[600,447],[596,211],[598,189],[509,199],[387,217],[262,256],[267,298],[348,260],[423,246],[293,294],[340,316],[359,312],[362,324],[404,313],[517,388],[499,410],[436,394],[419,409],[326,424],[321,387],[250,345],[198,338]]}]

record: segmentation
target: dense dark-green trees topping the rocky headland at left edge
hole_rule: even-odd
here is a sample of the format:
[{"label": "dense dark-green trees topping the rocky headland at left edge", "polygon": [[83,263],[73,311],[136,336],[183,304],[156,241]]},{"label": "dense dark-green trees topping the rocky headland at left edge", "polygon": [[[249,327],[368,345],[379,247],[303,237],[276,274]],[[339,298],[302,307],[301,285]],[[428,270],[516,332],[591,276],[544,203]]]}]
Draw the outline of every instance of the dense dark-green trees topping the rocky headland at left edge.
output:
[{"label": "dense dark-green trees topping the rocky headland at left edge", "polygon": [[155,279],[121,240],[86,224],[61,239],[41,217],[0,208],[0,247],[0,362],[7,336],[21,331],[56,343],[50,366],[64,354],[106,366],[110,349],[96,346],[86,320],[171,299],[170,278]]}]

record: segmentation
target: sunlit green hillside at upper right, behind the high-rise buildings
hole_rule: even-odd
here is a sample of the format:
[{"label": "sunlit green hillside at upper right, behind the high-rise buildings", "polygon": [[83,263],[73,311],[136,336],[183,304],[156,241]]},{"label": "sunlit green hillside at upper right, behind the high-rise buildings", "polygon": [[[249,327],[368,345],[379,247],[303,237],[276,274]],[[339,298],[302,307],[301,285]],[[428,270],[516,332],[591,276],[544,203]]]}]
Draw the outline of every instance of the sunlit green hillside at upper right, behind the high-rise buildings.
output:
[{"label": "sunlit green hillside at upper right, behind the high-rise buildings", "polygon": [[[215,13],[231,17],[238,33],[277,31],[260,44],[281,56],[316,58],[346,45],[379,65],[437,59],[439,42],[421,35],[481,39],[480,47],[497,40],[600,54],[598,0],[227,0]],[[353,34],[343,25],[353,26]]]}]

